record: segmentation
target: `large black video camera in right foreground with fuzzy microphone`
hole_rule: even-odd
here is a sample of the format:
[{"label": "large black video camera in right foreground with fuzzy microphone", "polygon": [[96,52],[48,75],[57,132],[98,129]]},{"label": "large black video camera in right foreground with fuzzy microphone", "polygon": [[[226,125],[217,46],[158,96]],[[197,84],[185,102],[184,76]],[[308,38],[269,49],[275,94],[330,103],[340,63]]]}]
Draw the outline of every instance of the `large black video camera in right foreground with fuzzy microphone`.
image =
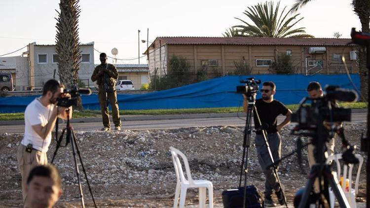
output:
[{"label": "large black video camera in right foreground with fuzzy microphone", "polygon": [[[292,113],[291,121],[298,123],[299,130],[316,128],[318,116],[329,122],[351,121],[351,109],[338,107],[335,101],[355,102],[357,93],[339,86],[327,86],[325,91],[322,98],[304,98],[296,112]],[[312,101],[311,105],[304,105],[308,100]]]}]

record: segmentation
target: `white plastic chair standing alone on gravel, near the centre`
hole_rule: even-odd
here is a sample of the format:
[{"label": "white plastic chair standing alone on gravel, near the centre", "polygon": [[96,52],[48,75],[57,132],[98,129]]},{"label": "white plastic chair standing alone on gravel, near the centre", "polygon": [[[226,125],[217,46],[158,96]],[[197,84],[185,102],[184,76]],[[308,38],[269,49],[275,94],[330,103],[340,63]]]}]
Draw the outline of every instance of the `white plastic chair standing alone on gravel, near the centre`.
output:
[{"label": "white plastic chair standing alone on gravel, near the centre", "polygon": [[[180,208],[184,208],[186,199],[186,190],[188,188],[199,188],[199,208],[205,208],[206,206],[206,188],[208,189],[208,200],[209,208],[213,208],[213,185],[208,180],[193,180],[191,178],[189,163],[187,158],[180,150],[170,147],[172,161],[175,167],[175,173],[177,177],[174,208],[178,207],[178,201],[180,197]],[[179,156],[183,159],[185,165],[185,172],[187,178],[185,178],[183,167],[180,162]]]}]

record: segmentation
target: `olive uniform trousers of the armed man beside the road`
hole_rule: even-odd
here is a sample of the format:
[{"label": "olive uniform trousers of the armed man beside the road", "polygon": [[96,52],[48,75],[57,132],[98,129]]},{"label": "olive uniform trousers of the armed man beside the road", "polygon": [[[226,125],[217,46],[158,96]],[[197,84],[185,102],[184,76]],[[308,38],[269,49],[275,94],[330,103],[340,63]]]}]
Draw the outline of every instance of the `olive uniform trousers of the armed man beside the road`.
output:
[{"label": "olive uniform trousers of the armed man beside the road", "polygon": [[121,127],[121,119],[119,118],[116,91],[113,91],[112,93],[106,93],[104,91],[104,88],[99,87],[99,104],[100,104],[100,109],[102,110],[103,125],[104,127],[111,128],[111,123],[109,120],[109,111],[107,107],[107,96],[108,96],[109,102],[111,103],[112,118],[113,118],[114,126]]}]

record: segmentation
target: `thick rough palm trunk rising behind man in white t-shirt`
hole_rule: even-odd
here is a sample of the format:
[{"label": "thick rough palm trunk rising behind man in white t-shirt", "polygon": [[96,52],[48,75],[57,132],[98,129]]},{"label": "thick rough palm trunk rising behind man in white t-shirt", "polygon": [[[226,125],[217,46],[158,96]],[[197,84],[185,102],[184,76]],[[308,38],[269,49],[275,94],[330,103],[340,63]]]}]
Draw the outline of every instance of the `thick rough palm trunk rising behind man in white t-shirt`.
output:
[{"label": "thick rough palm trunk rising behind man in white t-shirt", "polygon": [[[66,88],[77,86],[78,69],[81,54],[79,51],[78,17],[80,8],[79,0],[60,0],[57,20],[56,52],[59,56],[58,74],[61,83]],[[79,104],[78,104],[79,103]],[[82,104],[77,103],[77,108]]]}]

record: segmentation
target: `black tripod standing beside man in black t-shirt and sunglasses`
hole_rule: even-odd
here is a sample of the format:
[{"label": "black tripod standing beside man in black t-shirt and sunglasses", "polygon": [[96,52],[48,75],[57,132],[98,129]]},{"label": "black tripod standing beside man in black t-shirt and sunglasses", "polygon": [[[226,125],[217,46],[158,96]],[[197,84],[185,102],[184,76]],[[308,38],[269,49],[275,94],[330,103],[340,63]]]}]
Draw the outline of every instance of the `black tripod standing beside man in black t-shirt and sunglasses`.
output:
[{"label": "black tripod standing beside man in black t-shirt and sunglasses", "polygon": [[[255,116],[257,117],[257,120],[258,120],[259,126],[260,126],[259,129],[256,129],[256,130],[261,130],[262,131],[262,135],[263,135],[263,138],[264,138],[266,148],[267,148],[268,153],[269,153],[270,160],[271,160],[272,164],[274,164],[273,165],[273,173],[274,173],[274,175],[276,176],[276,178],[278,180],[280,191],[283,194],[284,204],[285,204],[286,207],[288,207],[287,200],[285,198],[285,193],[284,193],[284,190],[281,186],[280,178],[279,178],[279,175],[277,173],[277,165],[275,165],[275,163],[274,163],[274,159],[273,159],[273,156],[272,156],[272,153],[271,153],[271,149],[270,149],[269,143],[267,141],[267,133],[266,133],[266,130],[263,130],[261,121],[259,119],[259,114],[258,114],[258,111],[257,111],[257,107],[255,105],[255,103],[256,103],[256,100],[255,100],[256,93],[246,94],[246,96],[248,98],[248,107],[247,107],[246,125],[245,125],[245,129],[244,129],[243,157],[242,157],[240,180],[239,180],[239,187],[241,187],[242,175],[243,175],[243,172],[244,172],[243,208],[245,208],[246,195],[247,195],[247,191],[246,191],[247,186],[246,185],[247,185],[247,173],[248,173],[248,152],[249,152],[249,147],[250,147],[250,143],[251,143],[251,134],[252,134],[252,122],[251,121],[252,121],[253,112],[255,113]],[[244,169],[244,167],[245,167],[245,169]]]}]

